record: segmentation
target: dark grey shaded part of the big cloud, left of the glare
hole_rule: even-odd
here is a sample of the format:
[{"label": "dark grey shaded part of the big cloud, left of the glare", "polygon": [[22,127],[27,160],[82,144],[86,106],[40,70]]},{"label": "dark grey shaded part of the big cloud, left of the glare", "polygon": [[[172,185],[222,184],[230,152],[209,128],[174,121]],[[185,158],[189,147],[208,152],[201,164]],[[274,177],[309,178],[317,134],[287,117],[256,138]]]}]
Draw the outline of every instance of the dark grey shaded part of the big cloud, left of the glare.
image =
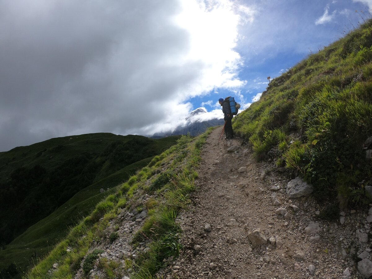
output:
[{"label": "dark grey shaded part of the big cloud, left of the glare", "polygon": [[177,1],[0,1],[0,150],[125,132],[198,75]]}]

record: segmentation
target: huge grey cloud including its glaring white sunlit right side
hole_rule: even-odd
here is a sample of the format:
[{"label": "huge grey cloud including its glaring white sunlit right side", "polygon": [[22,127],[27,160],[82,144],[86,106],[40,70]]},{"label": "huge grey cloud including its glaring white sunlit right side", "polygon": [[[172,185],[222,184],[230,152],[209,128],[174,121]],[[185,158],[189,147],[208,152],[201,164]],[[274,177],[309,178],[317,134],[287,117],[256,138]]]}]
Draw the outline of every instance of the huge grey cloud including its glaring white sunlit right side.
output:
[{"label": "huge grey cloud including its glaring white sunlit right side", "polygon": [[235,47],[254,15],[230,0],[0,1],[0,151],[182,124],[190,97],[246,84]]}]

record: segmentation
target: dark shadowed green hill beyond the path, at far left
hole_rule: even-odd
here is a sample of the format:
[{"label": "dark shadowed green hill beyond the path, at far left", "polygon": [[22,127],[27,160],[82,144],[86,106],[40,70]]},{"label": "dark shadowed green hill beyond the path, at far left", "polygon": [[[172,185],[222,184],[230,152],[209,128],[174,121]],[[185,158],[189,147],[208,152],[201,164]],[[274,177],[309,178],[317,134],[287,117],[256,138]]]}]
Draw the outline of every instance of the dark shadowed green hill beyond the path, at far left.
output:
[{"label": "dark shadowed green hill beyond the path, at far left", "polygon": [[178,138],[86,134],[0,153],[2,273],[9,266],[26,270],[115,186]]}]

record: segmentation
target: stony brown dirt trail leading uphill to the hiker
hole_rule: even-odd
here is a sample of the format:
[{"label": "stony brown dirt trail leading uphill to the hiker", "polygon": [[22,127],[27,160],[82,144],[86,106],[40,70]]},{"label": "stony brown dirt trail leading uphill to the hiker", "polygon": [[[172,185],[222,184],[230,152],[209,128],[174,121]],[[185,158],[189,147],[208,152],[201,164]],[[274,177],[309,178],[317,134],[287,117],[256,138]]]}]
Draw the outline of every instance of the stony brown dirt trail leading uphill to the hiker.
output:
[{"label": "stony brown dirt trail leading uphill to the hiker", "polygon": [[[207,139],[194,203],[177,220],[184,249],[159,278],[372,275],[365,212],[321,220],[320,205],[311,196],[289,198],[288,174],[274,162],[257,163],[237,139],[217,144],[220,133],[215,129]],[[358,256],[363,261],[356,263]]]}]

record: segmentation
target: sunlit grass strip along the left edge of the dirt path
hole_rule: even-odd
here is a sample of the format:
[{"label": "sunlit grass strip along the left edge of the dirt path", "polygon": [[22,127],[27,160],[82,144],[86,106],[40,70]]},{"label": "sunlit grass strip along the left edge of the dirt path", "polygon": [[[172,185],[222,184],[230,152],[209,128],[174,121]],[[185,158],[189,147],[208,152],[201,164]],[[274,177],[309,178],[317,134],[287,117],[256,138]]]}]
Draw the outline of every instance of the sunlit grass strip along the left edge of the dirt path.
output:
[{"label": "sunlit grass strip along the left edge of the dirt path", "polygon": [[[180,248],[177,236],[180,228],[175,218],[180,209],[190,203],[188,193],[195,189],[193,179],[197,177],[197,173],[194,169],[200,160],[200,148],[205,143],[207,133],[194,140],[183,136],[176,146],[155,156],[147,167],[142,168],[120,185],[115,194],[100,202],[90,216],[72,228],[67,238],[62,240],[26,277],[72,278],[89,251],[92,241],[102,238],[103,230],[108,227],[109,221],[126,207],[130,210],[146,208],[148,211],[149,218],[142,231],[135,235],[135,242],[143,241],[143,237],[151,239],[153,240],[151,249],[142,254],[135,264],[129,260],[127,265],[135,269],[134,278],[151,278],[164,265],[163,259],[176,255]],[[151,181],[150,185],[148,181]],[[164,193],[165,189],[168,190],[166,193]],[[138,203],[139,196],[154,191],[158,194],[157,200],[151,199],[143,204]],[[71,250],[68,253],[66,253],[67,248]],[[56,262],[60,267],[53,274],[48,274],[48,270]],[[124,268],[122,264],[104,265],[107,276],[122,277],[121,272]]]}]

